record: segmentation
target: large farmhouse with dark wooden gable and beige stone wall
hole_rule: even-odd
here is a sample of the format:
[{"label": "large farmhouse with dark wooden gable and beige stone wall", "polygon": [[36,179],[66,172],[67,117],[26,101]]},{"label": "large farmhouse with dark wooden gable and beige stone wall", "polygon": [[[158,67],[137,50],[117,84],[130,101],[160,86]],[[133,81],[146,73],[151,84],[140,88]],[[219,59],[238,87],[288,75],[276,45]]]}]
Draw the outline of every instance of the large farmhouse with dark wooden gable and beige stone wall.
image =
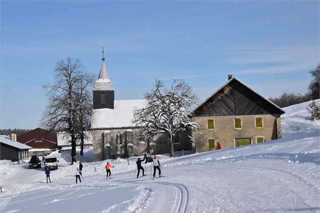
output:
[{"label": "large farmhouse with dark wooden gable and beige stone wall", "polygon": [[285,112],[232,78],[194,110],[193,121],[202,126],[196,133],[197,152],[263,143],[282,137],[281,114]]}]

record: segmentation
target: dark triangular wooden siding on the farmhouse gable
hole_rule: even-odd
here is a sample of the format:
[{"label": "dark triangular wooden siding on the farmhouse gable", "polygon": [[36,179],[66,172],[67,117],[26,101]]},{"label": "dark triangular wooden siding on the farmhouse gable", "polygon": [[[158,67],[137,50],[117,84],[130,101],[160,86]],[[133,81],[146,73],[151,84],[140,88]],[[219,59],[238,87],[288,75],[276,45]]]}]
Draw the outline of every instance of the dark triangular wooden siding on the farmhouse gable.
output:
[{"label": "dark triangular wooden siding on the farmhouse gable", "polygon": [[194,116],[283,114],[269,101],[233,79],[194,111]]}]

